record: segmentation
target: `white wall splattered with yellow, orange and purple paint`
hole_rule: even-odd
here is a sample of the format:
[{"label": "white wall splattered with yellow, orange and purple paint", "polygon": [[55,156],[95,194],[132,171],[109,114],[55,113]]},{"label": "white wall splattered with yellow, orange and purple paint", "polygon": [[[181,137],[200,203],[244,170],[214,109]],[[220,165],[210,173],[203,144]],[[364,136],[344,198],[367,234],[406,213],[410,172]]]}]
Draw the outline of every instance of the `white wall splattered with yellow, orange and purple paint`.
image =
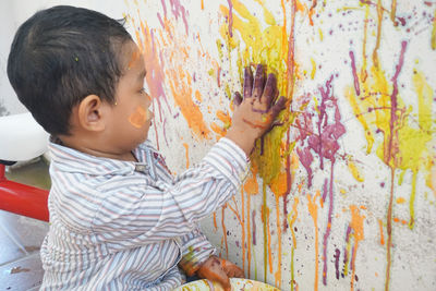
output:
[{"label": "white wall splattered with yellow, orange and purple paint", "polygon": [[288,107],[202,227],[281,290],[436,289],[436,2],[125,1],[175,173],[231,124],[243,68]]}]

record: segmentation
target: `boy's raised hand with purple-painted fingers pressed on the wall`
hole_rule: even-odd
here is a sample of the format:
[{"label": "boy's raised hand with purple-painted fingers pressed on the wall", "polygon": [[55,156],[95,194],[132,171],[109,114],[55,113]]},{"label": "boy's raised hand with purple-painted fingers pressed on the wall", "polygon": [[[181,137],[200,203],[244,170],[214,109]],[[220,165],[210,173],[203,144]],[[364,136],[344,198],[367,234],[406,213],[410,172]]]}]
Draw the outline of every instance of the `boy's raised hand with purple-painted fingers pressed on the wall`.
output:
[{"label": "boy's raised hand with purple-painted fingers pressed on the wall", "polygon": [[247,156],[256,138],[270,129],[278,113],[284,109],[283,96],[274,102],[277,94],[274,74],[269,74],[265,82],[264,66],[258,64],[253,83],[252,70],[250,66],[245,68],[244,98],[239,92],[234,94],[232,125],[226,136],[239,145]]}]

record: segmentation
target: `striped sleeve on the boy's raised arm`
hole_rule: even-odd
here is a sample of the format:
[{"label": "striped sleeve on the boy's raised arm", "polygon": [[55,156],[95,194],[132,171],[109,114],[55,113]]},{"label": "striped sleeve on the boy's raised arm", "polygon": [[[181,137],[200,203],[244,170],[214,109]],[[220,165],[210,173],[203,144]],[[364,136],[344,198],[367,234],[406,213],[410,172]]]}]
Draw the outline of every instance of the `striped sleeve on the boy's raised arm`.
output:
[{"label": "striped sleeve on the boy's raised arm", "polygon": [[[247,162],[240,147],[221,138],[196,167],[173,183],[113,181],[113,191],[107,191],[95,213],[93,231],[99,240],[123,247],[185,235],[238,191],[246,177]],[[194,247],[195,240],[192,242]]]}]

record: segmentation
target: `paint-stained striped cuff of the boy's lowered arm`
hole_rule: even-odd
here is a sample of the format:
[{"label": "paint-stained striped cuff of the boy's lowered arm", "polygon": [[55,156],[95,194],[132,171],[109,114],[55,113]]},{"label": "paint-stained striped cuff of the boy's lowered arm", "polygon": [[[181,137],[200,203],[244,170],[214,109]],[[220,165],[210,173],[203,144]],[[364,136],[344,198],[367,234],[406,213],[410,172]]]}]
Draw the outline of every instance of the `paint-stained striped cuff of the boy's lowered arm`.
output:
[{"label": "paint-stained striped cuff of the boy's lowered arm", "polygon": [[197,227],[192,232],[183,235],[182,241],[182,259],[179,266],[187,276],[193,276],[210,255],[215,254],[216,250],[202,233]]}]

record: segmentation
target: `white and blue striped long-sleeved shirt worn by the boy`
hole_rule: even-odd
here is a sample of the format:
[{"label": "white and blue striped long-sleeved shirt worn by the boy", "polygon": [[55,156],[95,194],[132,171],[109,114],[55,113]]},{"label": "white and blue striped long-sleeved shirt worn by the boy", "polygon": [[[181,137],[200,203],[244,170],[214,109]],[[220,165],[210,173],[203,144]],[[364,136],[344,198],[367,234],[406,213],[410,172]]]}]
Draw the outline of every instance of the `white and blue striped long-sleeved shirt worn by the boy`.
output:
[{"label": "white and blue striped long-sleeved shirt worn by the boy", "polygon": [[146,142],[138,162],[50,143],[50,230],[41,290],[172,290],[215,252],[197,221],[241,186],[247,159],[221,138],[173,178]]}]

